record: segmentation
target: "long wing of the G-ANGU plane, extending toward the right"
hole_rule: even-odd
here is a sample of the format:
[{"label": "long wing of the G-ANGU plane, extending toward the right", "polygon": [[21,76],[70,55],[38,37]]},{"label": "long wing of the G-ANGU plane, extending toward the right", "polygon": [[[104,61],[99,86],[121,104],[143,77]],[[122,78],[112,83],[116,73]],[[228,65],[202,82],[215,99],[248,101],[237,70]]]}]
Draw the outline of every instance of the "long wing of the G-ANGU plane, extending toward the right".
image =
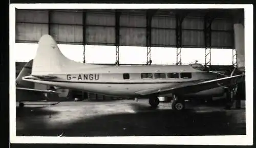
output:
[{"label": "long wing of the G-ANGU plane, extending toward the right", "polygon": [[239,82],[245,80],[245,75],[236,75],[230,77],[224,77],[214,80],[207,81],[194,81],[194,82],[183,82],[178,84],[175,87],[161,87],[161,88],[152,88],[149,90],[141,90],[136,92],[139,95],[165,95],[165,94],[189,94],[189,93],[197,93],[204,90],[209,90],[211,88],[216,88],[219,86],[230,87]]}]

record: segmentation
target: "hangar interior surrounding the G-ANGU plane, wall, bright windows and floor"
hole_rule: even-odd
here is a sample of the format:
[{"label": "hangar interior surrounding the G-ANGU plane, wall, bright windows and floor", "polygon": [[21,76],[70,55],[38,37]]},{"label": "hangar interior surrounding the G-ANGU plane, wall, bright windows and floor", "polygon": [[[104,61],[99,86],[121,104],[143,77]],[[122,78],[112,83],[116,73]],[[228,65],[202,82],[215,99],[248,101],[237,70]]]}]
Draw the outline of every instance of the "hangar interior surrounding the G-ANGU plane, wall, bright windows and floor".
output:
[{"label": "hangar interior surrounding the G-ANGU plane, wall, bright windows and floor", "polygon": [[[26,62],[30,61],[39,38],[49,34],[64,55],[81,63],[151,67],[187,65],[198,60],[210,71],[231,75],[234,67],[244,71],[243,11],[16,9],[15,54],[20,59],[27,56]],[[232,54],[225,54],[227,51]],[[229,63],[223,64],[222,60]],[[16,75],[25,64],[16,62]],[[53,89],[37,83],[33,87]],[[60,98],[50,95],[47,102],[32,100],[25,107],[18,107],[16,95],[16,136],[202,136],[247,132],[245,101],[241,101],[245,99],[244,83],[238,85],[236,108],[223,108],[221,101],[206,101],[203,105],[188,101],[184,112],[176,113],[175,103],[160,98],[159,108],[151,108],[147,99],[117,100],[75,90],[56,91],[61,93]],[[84,101],[74,102],[75,98]]]}]

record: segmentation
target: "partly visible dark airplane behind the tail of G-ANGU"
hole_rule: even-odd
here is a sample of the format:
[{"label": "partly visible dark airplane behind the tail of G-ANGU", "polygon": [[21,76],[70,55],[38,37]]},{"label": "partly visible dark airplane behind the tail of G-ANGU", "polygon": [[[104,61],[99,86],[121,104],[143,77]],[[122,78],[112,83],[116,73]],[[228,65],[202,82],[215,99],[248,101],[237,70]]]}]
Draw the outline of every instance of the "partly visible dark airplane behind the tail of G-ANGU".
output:
[{"label": "partly visible dark airplane behind the tail of G-ANGU", "polygon": [[49,100],[45,94],[59,94],[52,90],[38,90],[34,89],[34,83],[24,81],[22,78],[31,73],[33,60],[30,60],[20,71],[16,78],[16,101],[19,102],[19,107],[23,107],[24,101],[42,101]]}]

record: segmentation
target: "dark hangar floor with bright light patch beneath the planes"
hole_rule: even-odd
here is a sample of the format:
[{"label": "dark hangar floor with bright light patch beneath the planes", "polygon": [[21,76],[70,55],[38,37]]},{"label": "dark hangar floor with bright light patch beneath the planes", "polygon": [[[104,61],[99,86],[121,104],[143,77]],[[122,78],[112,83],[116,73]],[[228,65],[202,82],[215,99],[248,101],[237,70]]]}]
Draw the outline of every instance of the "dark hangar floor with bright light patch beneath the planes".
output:
[{"label": "dark hangar floor with bright light patch beneath the planes", "polygon": [[[225,110],[221,101],[187,102],[183,112],[148,99],[16,103],[17,136],[182,136],[246,134],[245,100]],[[234,108],[234,107],[233,107]]]}]

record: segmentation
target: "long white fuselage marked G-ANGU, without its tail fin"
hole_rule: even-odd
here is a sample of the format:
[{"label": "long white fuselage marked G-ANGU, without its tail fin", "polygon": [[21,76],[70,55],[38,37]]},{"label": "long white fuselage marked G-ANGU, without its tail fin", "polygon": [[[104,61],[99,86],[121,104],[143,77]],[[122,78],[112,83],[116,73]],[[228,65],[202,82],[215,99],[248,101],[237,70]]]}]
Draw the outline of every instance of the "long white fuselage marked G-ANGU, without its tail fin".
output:
[{"label": "long white fuselage marked G-ANGU, without its tail fin", "polygon": [[[219,73],[196,70],[189,65],[126,65],[102,66],[99,68],[86,68],[86,66],[84,66],[84,68],[84,70],[79,69],[70,72],[66,70],[65,73],[54,73],[52,75],[57,76],[57,78],[51,80],[36,78],[25,80],[102,95],[138,97],[139,95],[136,92],[142,90],[175,87],[181,83],[191,83],[224,77]],[[161,73],[161,76],[157,77],[158,74],[156,73]],[[150,74],[152,74],[152,76],[150,76]],[[224,94],[223,88],[217,87],[188,95],[219,96],[222,94]]]}]

